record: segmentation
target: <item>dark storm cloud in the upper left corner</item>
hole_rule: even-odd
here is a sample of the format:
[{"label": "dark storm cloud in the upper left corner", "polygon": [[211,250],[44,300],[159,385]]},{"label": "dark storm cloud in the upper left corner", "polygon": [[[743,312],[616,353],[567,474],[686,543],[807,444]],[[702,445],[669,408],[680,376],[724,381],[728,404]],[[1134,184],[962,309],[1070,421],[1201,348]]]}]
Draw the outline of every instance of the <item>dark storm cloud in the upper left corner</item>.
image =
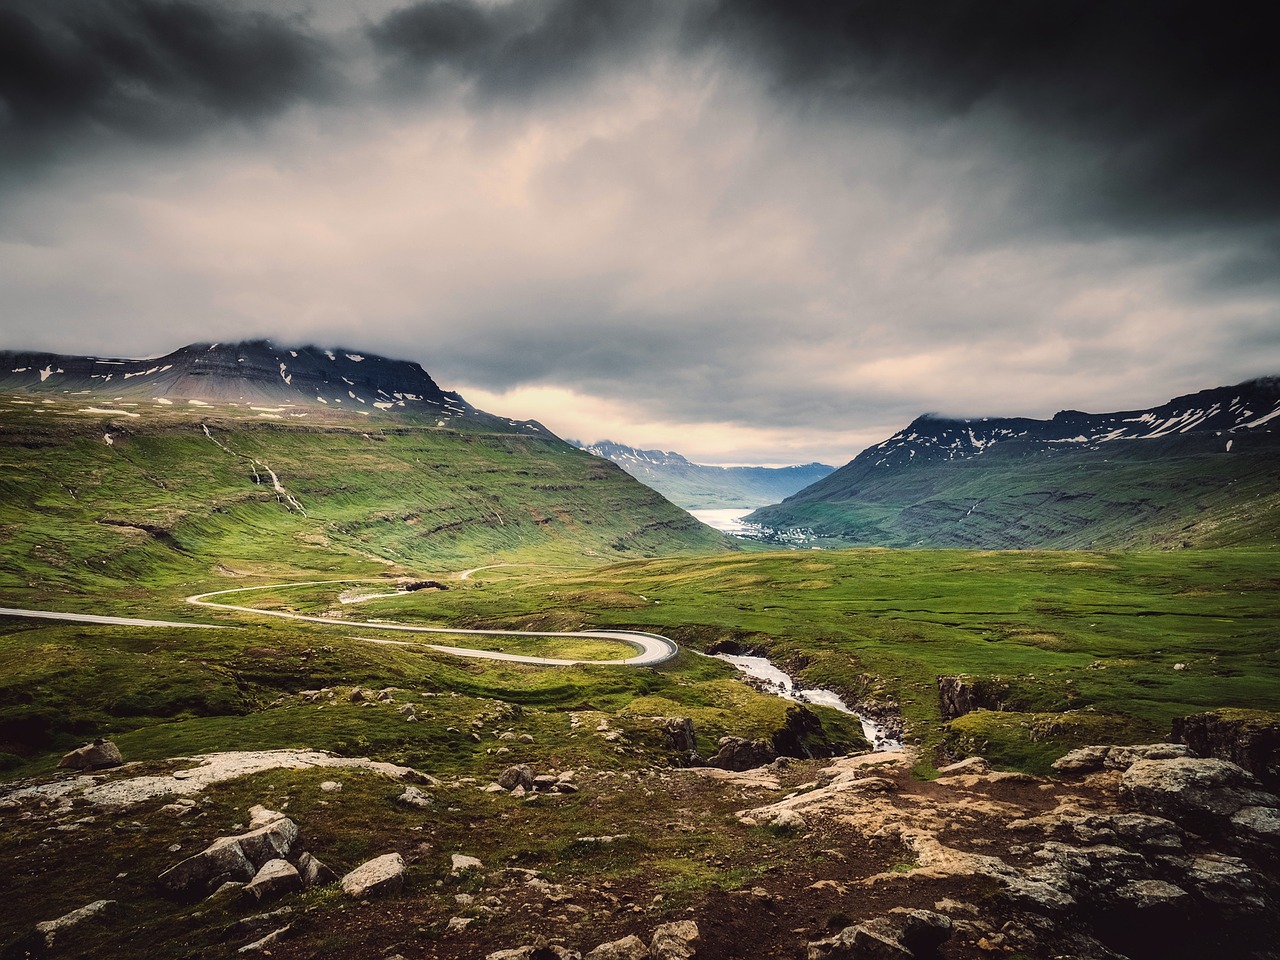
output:
[{"label": "dark storm cloud in the upper left corner", "polygon": [[173,141],[333,88],[323,41],[270,13],[179,0],[0,9],[0,143],[37,165],[83,141]]}]

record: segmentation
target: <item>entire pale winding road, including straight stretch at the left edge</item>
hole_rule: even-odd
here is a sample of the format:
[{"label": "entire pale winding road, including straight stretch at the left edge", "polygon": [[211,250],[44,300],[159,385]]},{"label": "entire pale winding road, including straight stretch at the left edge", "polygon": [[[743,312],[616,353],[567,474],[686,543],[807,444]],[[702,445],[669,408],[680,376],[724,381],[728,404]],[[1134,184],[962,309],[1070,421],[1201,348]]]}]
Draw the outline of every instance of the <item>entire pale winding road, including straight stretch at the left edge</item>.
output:
[{"label": "entire pale winding road, including straight stretch at the left edge", "polygon": [[[502,564],[507,566],[507,564]],[[467,579],[471,573],[485,567],[465,571]],[[486,660],[506,660],[508,663],[529,663],[539,667],[572,667],[580,664],[594,664],[602,667],[654,667],[675,657],[680,648],[675,641],[659,634],[644,634],[635,630],[579,630],[579,631],[531,631],[531,630],[472,630],[466,627],[422,627],[407,623],[376,623],[370,621],[335,620],[333,617],[311,617],[303,613],[287,613],[284,611],[264,611],[256,607],[242,607],[232,603],[218,603],[212,596],[228,596],[230,594],[252,593],[253,590],[283,590],[294,586],[326,586],[337,584],[387,584],[385,580],[308,580],[296,584],[268,584],[264,586],[238,586],[230,590],[212,590],[206,594],[196,594],[187,598],[187,603],[197,607],[209,607],[220,611],[237,611],[239,613],[253,613],[260,617],[280,617],[283,620],[301,620],[311,623],[325,623],[328,626],[358,627],[362,630],[394,630],[406,634],[448,634],[480,635],[480,636],[547,636],[547,637],[586,637],[593,640],[617,640],[634,646],[637,653],[625,660],[570,660],[554,657],[524,657],[513,653],[500,653],[498,650],[474,650],[468,646],[444,646],[442,644],[416,644],[407,640],[378,640],[372,637],[356,637],[371,644],[408,646],[415,649],[426,648],[438,653],[453,654],[456,657],[472,657]],[[390,586],[390,584],[387,584]],[[394,595],[394,594],[388,594]],[[164,620],[137,620],[132,617],[106,617],[90,613],[56,613],[54,611],[29,611],[13,607],[0,607],[0,616],[4,617],[40,617],[44,620],[64,620],[81,623],[111,623],[120,626],[145,627],[187,627],[196,630],[224,630],[220,623],[183,623]]]}]

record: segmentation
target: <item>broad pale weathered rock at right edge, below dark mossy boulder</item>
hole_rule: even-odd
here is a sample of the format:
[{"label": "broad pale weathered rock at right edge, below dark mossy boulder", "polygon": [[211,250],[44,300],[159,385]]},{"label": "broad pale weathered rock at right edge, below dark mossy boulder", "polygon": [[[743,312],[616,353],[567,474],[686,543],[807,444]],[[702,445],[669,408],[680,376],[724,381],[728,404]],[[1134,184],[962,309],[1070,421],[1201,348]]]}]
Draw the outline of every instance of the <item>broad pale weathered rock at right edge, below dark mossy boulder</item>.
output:
[{"label": "broad pale weathered rock at right edge, below dark mossy boulder", "polygon": [[1213,758],[1138,760],[1120,778],[1120,796],[1193,829],[1221,828],[1244,806],[1280,806],[1252,773]]}]

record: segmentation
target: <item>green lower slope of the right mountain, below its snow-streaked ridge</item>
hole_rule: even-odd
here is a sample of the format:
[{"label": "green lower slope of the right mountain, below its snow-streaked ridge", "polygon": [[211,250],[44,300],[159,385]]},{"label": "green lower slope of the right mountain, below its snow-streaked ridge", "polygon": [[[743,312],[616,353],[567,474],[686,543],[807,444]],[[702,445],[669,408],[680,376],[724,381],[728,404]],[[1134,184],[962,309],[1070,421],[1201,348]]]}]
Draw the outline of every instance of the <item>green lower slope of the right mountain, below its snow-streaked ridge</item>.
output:
[{"label": "green lower slope of the right mountain, below its snow-streaked ridge", "polygon": [[753,520],[823,545],[1079,549],[1280,543],[1280,445],[1270,434],[995,447],[964,461],[846,467]]}]

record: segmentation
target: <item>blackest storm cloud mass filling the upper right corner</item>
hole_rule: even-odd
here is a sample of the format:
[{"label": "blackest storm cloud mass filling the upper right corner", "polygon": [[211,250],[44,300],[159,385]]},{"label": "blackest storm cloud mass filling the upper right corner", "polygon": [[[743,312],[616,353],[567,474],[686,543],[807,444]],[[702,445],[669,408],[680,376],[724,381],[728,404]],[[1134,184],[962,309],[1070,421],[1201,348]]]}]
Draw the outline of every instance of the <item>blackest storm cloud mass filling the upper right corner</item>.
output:
[{"label": "blackest storm cloud mass filling the upper right corner", "polygon": [[756,58],[785,96],[991,115],[1042,186],[1075,188],[1055,212],[1076,224],[1280,215],[1280,70],[1249,5],[722,0],[700,29]]}]

